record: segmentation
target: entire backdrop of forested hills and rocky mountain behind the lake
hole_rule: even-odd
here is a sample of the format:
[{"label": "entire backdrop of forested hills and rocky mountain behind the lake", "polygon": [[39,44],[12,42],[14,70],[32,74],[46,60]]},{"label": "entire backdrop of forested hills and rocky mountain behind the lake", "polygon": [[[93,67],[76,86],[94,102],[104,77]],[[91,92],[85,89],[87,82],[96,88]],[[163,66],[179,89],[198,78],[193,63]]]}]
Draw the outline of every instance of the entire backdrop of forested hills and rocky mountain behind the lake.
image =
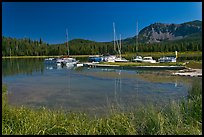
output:
[{"label": "entire backdrop of forested hills and rocky mountain behind the lake", "polygon": [[[143,28],[138,35],[122,40],[122,53],[125,52],[169,52],[169,51],[202,51],[202,21],[191,21],[182,24],[154,23]],[[152,45],[152,46],[150,46]],[[69,41],[70,55],[116,54],[113,41],[96,42],[84,39]],[[30,38],[16,39],[2,36],[3,56],[41,56],[66,55],[66,43],[48,44]]]}]

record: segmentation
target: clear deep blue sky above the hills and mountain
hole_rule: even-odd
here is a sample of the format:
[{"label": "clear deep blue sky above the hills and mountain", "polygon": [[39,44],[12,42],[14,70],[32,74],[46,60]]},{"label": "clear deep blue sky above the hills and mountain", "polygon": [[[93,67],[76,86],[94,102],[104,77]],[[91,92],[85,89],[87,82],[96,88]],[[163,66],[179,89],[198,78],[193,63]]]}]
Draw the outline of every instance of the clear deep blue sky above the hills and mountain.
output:
[{"label": "clear deep blue sky above the hills and mountain", "polygon": [[2,2],[2,35],[49,44],[136,35],[150,24],[202,21],[202,2]]}]

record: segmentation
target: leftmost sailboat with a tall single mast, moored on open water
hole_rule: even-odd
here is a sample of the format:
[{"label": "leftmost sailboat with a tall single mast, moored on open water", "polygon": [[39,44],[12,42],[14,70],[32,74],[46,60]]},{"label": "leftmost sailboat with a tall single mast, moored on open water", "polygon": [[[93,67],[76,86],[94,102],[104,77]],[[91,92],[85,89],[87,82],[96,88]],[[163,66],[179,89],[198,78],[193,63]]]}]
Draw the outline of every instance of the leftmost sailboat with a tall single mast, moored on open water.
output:
[{"label": "leftmost sailboat with a tall single mast, moored on open water", "polygon": [[67,56],[62,56],[61,58],[57,59],[57,65],[65,65],[69,68],[74,67],[79,61],[76,60],[75,58],[69,57],[69,46],[68,46],[68,31],[66,29],[66,46],[67,46]]}]

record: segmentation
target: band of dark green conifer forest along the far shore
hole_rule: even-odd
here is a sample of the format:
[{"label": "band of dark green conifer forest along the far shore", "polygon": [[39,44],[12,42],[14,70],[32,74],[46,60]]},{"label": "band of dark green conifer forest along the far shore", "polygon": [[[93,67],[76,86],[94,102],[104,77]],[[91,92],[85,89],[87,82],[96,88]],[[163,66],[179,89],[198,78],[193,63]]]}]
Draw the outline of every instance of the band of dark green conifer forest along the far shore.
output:
[{"label": "band of dark green conifer forest along the far shore", "polygon": [[[113,42],[95,42],[83,39],[69,41],[70,55],[116,54]],[[52,56],[67,55],[66,43],[48,44],[30,38],[2,37],[2,56]],[[126,43],[122,41],[122,53],[136,52],[185,52],[202,51],[202,39],[184,39],[161,43]]]}]

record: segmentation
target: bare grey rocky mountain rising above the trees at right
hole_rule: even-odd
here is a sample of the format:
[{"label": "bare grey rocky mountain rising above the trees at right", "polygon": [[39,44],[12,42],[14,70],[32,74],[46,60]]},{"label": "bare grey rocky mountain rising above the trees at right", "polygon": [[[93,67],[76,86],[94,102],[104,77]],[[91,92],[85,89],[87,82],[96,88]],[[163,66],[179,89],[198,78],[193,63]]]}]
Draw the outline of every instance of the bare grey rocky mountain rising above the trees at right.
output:
[{"label": "bare grey rocky mountain rising above the trees at right", "polygon": [[[135,42],[135,37],[124,39],[125,44]],[[182,24],[154,23],[143,28],[138,35],[140,43],[174,41],[202,37],[202,21],[195,20]]]}]

